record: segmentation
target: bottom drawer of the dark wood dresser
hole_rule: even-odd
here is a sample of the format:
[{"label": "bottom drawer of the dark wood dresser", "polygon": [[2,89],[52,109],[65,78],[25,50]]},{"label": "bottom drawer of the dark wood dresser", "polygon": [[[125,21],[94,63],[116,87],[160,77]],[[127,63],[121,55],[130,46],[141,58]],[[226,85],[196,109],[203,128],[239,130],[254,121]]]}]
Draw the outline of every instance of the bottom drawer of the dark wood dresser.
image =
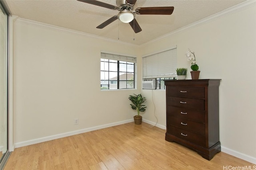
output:
[{"label": "bottom drawer of the dark wood dresser", "polygon": [[167,133],[170,133],[176,137],[179,137],[180,139],[190,141],[196,145],[200,145],[202,147],[205,146],[205,136],[204,135],[198,135],[196,133],[186,131],[184,129],[180,129],[178,127],[173,127],[172,125],[168,125]]}]

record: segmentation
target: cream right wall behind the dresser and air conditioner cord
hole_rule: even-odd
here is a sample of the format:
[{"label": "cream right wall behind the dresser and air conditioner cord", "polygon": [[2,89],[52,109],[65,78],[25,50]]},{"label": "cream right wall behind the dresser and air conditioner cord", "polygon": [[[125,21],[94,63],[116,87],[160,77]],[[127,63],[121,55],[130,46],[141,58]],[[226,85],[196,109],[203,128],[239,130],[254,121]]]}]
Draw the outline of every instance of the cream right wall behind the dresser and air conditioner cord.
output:
[{"label": "cream right wall behind the dresser and air conditioner cord", "polygon": [[[222,150],[256,163],[256,6],[144,45],[140,55],[177,45],[178,67],[190,69],[185,53],[195,52],[200,78],[220,78],[220,142]],[[188,72],[187,79],[191,79]],[[142,90],[148,98],[151,90]],[[166,125],[165,93],[154,90],[158,123]],[[160,102],[161,101],[161,102]],[[150,109],[144,115],[154,122]]]}]

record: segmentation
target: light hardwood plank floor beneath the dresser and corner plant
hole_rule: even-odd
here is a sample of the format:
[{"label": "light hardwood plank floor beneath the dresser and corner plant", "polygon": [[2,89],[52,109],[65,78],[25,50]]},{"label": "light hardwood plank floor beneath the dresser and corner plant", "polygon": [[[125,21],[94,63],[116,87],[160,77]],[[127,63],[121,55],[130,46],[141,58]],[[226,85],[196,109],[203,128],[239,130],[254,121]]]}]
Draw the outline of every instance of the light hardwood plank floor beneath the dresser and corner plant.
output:
[{"label": "light hardwood plank floor beneath the dresser and corner plant", "polygon": [[229,170],[256,165],[220,152],[208,161],[167,142],[165,130],[126,123],[14,150],[4,170]]}]

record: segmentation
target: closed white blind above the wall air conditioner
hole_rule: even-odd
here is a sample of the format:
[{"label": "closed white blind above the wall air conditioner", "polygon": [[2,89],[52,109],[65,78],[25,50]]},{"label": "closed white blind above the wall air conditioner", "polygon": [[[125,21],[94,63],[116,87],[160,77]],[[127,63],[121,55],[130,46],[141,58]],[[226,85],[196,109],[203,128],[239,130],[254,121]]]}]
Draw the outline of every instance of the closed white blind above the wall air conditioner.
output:
[{"label": "closed white blind above the wall air conditioner", "polygon": [[177,48],[143,57],[142,61],[143,78],[177,76]]}]

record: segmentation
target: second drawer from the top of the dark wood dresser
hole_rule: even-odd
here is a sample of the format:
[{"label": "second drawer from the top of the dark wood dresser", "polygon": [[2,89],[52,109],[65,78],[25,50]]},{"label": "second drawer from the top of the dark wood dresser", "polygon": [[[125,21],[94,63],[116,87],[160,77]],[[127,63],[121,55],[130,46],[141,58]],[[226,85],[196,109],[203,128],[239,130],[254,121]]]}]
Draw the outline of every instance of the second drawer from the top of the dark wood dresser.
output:
[{"label": "second drawer from the top of the dark wood dresser", "polygon": [[180,97],[166,97],[166,104],[168,106],[186,107],[190,109],[204,110],[203,99],[180,98]]}]

